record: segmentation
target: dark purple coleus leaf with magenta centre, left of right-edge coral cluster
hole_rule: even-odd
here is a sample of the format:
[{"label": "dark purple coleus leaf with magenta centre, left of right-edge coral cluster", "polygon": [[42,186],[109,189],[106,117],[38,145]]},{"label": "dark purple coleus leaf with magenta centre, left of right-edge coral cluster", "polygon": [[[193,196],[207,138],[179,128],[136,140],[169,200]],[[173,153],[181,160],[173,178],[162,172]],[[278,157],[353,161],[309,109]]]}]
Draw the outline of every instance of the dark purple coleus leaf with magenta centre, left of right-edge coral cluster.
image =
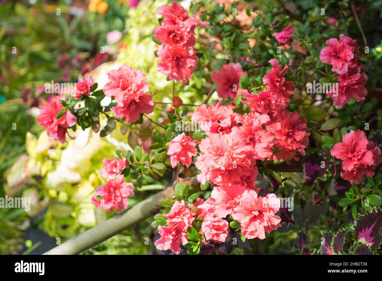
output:
[{"label": "dark purple coleus leaf with magenta centre, left of right-edge coral cluster", "polygon": [[305,158],[305,162],[303,163],[303,182],[309,186],[313,186],[318,179],[322,179],[329,174],[331,166],[333,166],[332,159],[325,158],[319,153],[310,154]]}]

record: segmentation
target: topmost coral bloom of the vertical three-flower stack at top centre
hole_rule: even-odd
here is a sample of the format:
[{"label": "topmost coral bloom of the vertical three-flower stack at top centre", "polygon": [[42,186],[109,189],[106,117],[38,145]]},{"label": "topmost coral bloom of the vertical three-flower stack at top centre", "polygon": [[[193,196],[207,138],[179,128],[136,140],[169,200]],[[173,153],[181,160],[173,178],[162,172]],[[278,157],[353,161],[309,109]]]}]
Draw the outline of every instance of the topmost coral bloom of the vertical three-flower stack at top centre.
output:
[{"label": "topmost coral bloom of the vertical three-flower stack at top centre", "polygon": [[189,26],[191,32],[194,32],[195,27],[199,23],[199,19],[194,16],[189,17],[188,11],[175,1],[172,2],[171,6],[165,5],[160,7],[157,14],[163,16],[162,26],[184,23]]}]

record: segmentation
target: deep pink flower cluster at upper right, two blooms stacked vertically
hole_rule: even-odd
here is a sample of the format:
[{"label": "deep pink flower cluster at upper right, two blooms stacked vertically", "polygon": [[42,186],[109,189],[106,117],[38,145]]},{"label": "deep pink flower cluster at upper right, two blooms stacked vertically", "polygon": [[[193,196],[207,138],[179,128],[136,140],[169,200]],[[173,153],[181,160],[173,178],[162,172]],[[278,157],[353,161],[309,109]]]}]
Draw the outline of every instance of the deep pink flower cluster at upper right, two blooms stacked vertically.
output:
[{"label": "deep pink flower cluster at upper right, two blooms stacked vertically", "polygon": [[339,40],[330,38],[326,44],[328,46],[320,52],[320,60],[332,65],[332,71],[339,75],[340,81],[338,89],[332,89],[327,95],[333,97],[333,104],[340,108],[353,98],[363,101],[367,95],[367,75],[361,73],[362,63],[358,60],[360,56],[357,41],[341,34]]}]

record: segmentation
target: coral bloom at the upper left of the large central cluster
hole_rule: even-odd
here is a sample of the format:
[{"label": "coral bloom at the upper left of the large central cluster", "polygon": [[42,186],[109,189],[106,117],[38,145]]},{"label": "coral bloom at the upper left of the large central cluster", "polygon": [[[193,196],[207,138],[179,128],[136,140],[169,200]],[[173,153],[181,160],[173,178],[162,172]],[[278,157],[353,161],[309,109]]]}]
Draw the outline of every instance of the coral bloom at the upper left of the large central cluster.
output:
[{"label": "coral bloom at the upper left of the large central cluster", "polygon": [[191,120],[194,122],[199,121],[200,128],[206,132],[207,135],[212,133],[230,133],[232,125],[235,123],[236,113],[227,106],[222,106],[222,99],[216,106],[206,104],[197,106],[196,110],[192,113]]}]

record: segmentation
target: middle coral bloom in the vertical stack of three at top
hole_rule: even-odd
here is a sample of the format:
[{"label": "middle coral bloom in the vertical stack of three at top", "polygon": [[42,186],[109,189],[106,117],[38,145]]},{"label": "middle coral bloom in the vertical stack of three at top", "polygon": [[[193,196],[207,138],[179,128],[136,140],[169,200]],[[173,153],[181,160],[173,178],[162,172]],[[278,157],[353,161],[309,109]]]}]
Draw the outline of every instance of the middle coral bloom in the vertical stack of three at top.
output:
[{"label": "middle coral bloom in the vertical stack of three at top", "polygon": [[186,49],[195,45],[195,37],[189,27],[183,23],[176,25],[162,25],[155,29],[155,38],[162,44],[183,45]]}]

